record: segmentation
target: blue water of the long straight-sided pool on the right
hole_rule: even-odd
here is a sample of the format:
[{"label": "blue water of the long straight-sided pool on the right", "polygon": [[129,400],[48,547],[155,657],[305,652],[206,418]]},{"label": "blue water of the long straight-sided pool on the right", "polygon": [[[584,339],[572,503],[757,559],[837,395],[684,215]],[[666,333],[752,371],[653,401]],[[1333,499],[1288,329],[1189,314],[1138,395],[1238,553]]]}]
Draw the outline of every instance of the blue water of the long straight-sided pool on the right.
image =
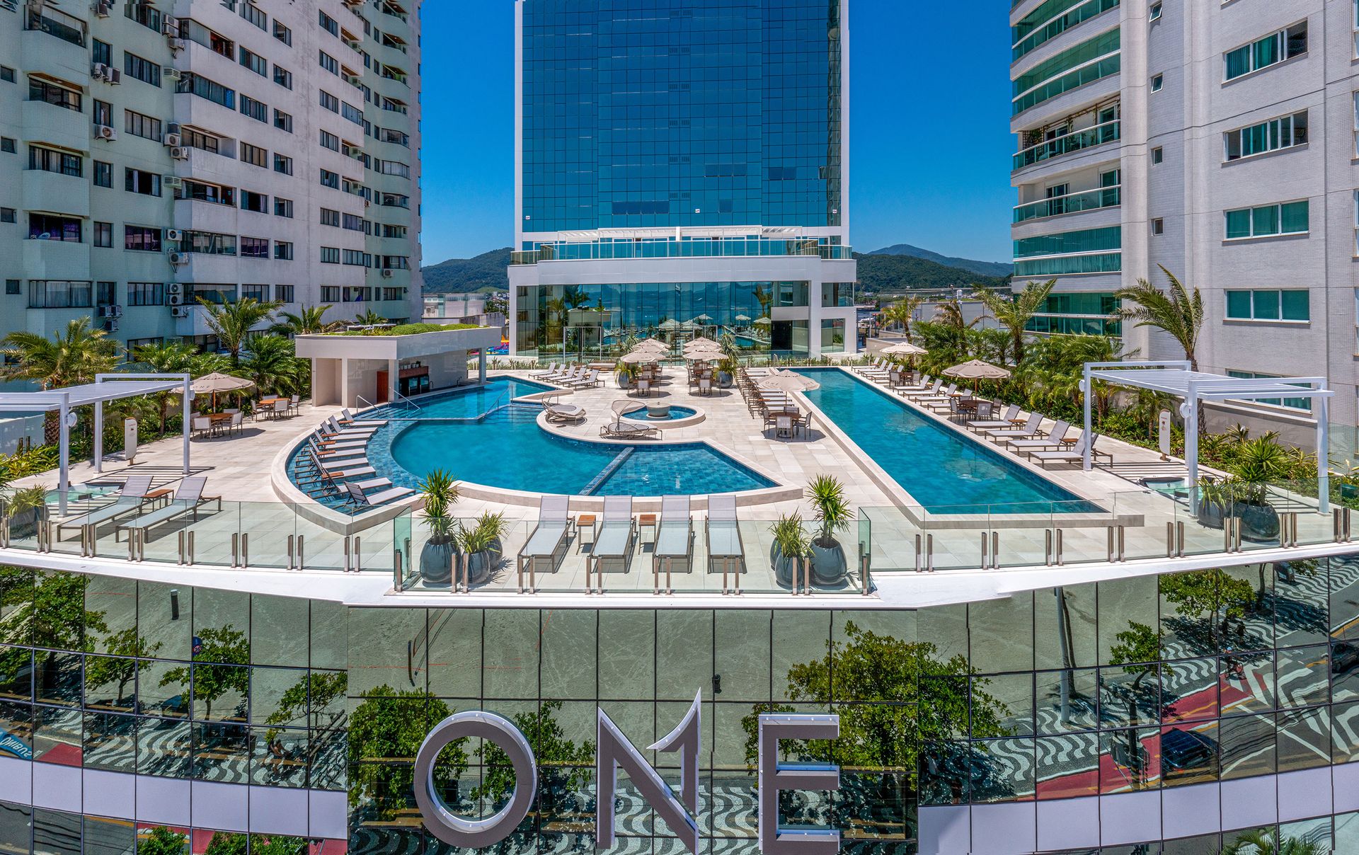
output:
[{"label": "blue water of the long straight-sided pool on the right", "polygon": [[799,368],[807,400],[931,514],[1087,514],[1099,508],[839,368]]}]

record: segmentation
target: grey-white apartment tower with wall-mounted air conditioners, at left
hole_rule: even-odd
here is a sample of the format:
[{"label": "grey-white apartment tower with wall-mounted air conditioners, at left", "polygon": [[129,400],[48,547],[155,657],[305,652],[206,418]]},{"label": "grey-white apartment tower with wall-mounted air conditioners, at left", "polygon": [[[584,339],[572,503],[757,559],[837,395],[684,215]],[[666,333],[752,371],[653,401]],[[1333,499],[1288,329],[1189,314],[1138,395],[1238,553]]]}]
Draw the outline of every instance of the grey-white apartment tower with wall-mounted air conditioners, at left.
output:
[{"label": "grey-white apartment tower with wall-mounted air conditioners, at left", "polygon": [[0,334],[420,317],[412,0],[0,3]]}]

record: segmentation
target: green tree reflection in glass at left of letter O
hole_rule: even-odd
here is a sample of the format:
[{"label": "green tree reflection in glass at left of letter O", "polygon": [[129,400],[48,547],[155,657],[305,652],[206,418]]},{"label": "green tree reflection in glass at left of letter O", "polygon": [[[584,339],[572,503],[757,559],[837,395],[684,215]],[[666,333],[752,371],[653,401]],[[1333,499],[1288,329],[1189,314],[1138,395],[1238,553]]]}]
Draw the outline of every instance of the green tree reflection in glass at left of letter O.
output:
[{"label": "green tree reflection in glass at left of letter O", "polygon": [[[448,718],[448,704],[421,689],[398,692],[375,686],[349,716],[349,807],[367,807],[371,818],[391,821],[413,798],[413,761],[429,723]],[[466,739],[439,754],[435,783],[446,788],[467,771]],[[398,801],[400,799],[400,801]]]}]

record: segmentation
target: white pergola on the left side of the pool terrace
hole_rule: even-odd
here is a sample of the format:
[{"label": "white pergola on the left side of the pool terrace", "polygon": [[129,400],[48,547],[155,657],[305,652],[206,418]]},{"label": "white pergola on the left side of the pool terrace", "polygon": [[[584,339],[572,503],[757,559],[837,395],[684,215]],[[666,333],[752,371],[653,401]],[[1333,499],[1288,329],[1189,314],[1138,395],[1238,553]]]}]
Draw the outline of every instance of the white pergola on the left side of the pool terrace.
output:
[{"label": "white pergola on the left side of the pool terrace", "polygon": [[[61,512],[67,512],[67,491],[71,488],[71,411],[94,406],[94,435],[103,436],[103,405],[122,398],[139,398],[163,391],[183,394],[183,473],[189,474],[189,438],[192,435],[190,408],[193,406],[192,379],[188,374],[98,374],[92,383],[48,389],[45,391],[0,391],[0,413],[58,413],[61,439],[58,440]],[[94,442],[94,469],[103,472],[103,443]]]}]

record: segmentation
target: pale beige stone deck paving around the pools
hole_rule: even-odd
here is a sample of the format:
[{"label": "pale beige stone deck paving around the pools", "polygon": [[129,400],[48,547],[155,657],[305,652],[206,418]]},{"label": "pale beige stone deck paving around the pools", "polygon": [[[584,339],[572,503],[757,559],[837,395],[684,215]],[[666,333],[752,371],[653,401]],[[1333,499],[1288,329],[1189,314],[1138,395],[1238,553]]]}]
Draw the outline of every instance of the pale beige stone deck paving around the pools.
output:
[{"label": "pale beige stone deck paving around the pools", "polygon": [[[526,372],[493,372],[497,375],[514,375],[526,378]],[[996,515],[992,519],[939,519],[939,525],[921,526],[917,519],[905,512],[901,507],[900,491],[893,489],[893,484],[882,485],[881,478],[868,472],[863,462],[858,459],[852,449],[847,449],[843,438],[837,438],[833,428],[828,428],[821,421],[819,413],[814,415],[813,425],[795,438],[777,438],[775,431],[761,430],[761,420],[752,417],[741,393],[735,389],[718,389],[709,396],[690,393],[685,381],[684,368],[680,366],[667,368],[669,382],[659,387],[659,396],[651,398],[631,400],[643,402],[650,400],[656,402],[669,401],[681,406],[701,409],[705,417],[701,423],[689,427],[665,428],[660,442],[689,443],[708,442],[722,451],[727,451],[737,459],[753,464],[758,470],[775,478],[784,487],[805,485],[817,474],[832,474],[839,477],[847,491],[849,503],[860,508],[860,517],[871,527],[871,564],[875,574],[890,574],[894,571],[911,571],[916,563],[917,538],[921,545],[932,544],[932,564],[935,570],[978,571],[981,568],[983,533],[999,531],[996,542],[1000,567],[1033,567],[1042,565],[1046,560],[1048,544],[1045,538],[1052,526],[1048,518],[1021,521]],[[610,404],[624,397],[625,393],[614,385],[613,377],[607,377],[605,385],[597,389],[565,394],[564,401],[582,406],[587,416],[579,424],[557,425],[554,430],[565,436],[578,439],[599,440],[599,427],[612,417]],[[802,402],[806,409],[806,401]],[[928,417],[945,421],[938,416],[916,408],[917,412]],[[308,519],[304,519],[294,510],[277,499],[269,478],[269,464],[284,449],[299,436],[315,428],[325,417],[334,415],[337,408],[314,408],[303,405],[298,417],[285,420],[270,420],[247,423],[243,434],[232,436],[196,439],[193,440],[193,472],[208,476],[208,495],[220,495],[227,502],[224,512],[204,512],[200,519],[192,523],[192,530],[197,538],[196,553],[200,564],[226,564],[222,556],[231,555],[231,540],[235,533],[250,534],[250,567],[283,568],[285,560],[285,542],[288,536],[304,534],[307,537],[307,567],[319,570],[338,570],[344,567],[344,538],[333,531],[328,531]],[[958,430],[950,424],[950,430]],[[1072,431],[1074,432],[1074,431]],[[1185,553],[1201,555],[1223,551],[1223,533],[1220,529],[1207,529],[1199,526],[1188,510],[1170,498],[1146,489],[1137,484],[1137,478],[1148,476],[1184,476],[1184,465],[1178,461],[1161,461],[1155,451],[1129,446],[1112,439],[1102,439],[1101,447],[1114,455],[1113,465],[1099,466],[1093,472],[1082,472],[1078,466],[1053,466],[1041,472],[1042,477],[1064,487],[1084,499],[1093,500],[1102,507],[1109,518],[1104,521],[1090,521],[1080,525],[1070,525],[1075,521],[1061,521],[1059,526],[1064,536],[1064,555],[1068,563],[1087,563],[1102,560],[1108,548],[1106,525],[1124,521],[1127,527],[1127,555],[1129,557],[1154,557],[1166,553],[1166,523],[1185,523]],[[151,473],[156,487],[173,487],[181,477],[181,444],[179,440],[167,439],[149,446],[144,446],[137,455],[137,472]],[[1010,459],[1015,455],[1003,453]],[[546,462],[545,462],[546,464]],[[1027,464],[1021,464],[1027,465]],[[927,470],[928,461],[921,461],[921,469]],[[76,462],[71,468],[72,484],[84,483],[121,483],[126,476],[128,466],[118,459],[106,459],[102,476],[94,473],[88,462]],[[1211,470],[1210,470],[1211,472]],[[457,473],[454,473],[457,474]],[[24,478],[20,485],[43,484],[54,487],[53,473]],[[1286,507],[1303,511],[1299,518],[1303,542],[1318,542],[1326,540],[1330,518],[1322,517],[1307,504],[1307,500],[1284,496]],[[235,504],[241,503],[241,504]],[[690,572],[674,572],[673,587],[677,593],[718,593],[723,589],[723,574],[720,568],[709,568],[707,556],[707,538],[703,529],[703,507],[705,502],[696,502],[696,521],[693,538],[693,560]],[[530,537],[534,526],[537,508],[525,504],[504,504],[485,499],[465,498],[455,512],[459,518],[467,519],[484,511],[499,511],[506,515],[510,523],[510,533],[504,538],[506,560],[492,574],[492,578],[477,590],[488,593],[514,593],[519,586],[519,576],[515,571],[514,556]],[[742,575],[741,587],[747,593],[777,593],[787,590],[780,587],[769,561],[772,538],[769,525],[783,514],[800,511],[809,521],[811,512],[803,500],[780,500],[752,507],[741,507],[741,536],[745,545],[747,565]],[[575,514],[575,508],[573,508]],[[1129,522],[1136,521],[1136,522]],[[183,527],[189,527],[188,523]],[[160,531],[147,546],[147,560],[175,560],[175,527],[167,526],[167,531]],[[853,564],[855,542],[863,530],[856,526],[841,534],[840,540],[849,553]],[[583,534],[583,536],[582,536]],[[363,568],[366,571],[391,574],[391,555],[394,544],[394,527],[391,523],[375,527],[366,533],[361,542]],[[410,544],[412,555],[419,555],[423,545],[421,526],[413,526],[416,542]],[[635,541],[631,563],[626,572],[622,567],[606,570],[603,586],[610,591],[651,593],[655,579],[652,575],[651,540],[654,530],[639,529]],[[537,575],[537,589],[540,591],[586,591],[586,575],[593,565],[591,548],[588,541],[588,527],[580,533],[572,531],[565,557],[554,572],[540,572]],[[73,553],[79,548],[79,538],[72,541],[68,531],[65,541],[57,545],[57,552]],[[1246,549],[1254,548],[1246,544]],[[113,530],[105,527],[99,533],[98,555],[110,557],[125,557],[126,545],[116,542]],[[1245,555],[1249,555],[1246,552]],[[213,556],[213,557],[208,557]],[[1079,557],[1078,557],[1079,556]],[[928,563],[923,557],[921,563]],[[185,572],[192,572],[185,568]],[[881,576],[879,576],[881,578]],[[731,580],[728,580],[731,582]],[[300,586],[299,579],[299,586]],[[423,590],[429,593],[447,591],[446,582],[423,583],[408,579],[413,584],[409,590]],[[662,586],[665,578],[662,575]],[[856,593],[859,579],[851,567],[851,575],[840,587],[818,589],[818,593]],[[299,587],[299,594],[303,593]]]}]

